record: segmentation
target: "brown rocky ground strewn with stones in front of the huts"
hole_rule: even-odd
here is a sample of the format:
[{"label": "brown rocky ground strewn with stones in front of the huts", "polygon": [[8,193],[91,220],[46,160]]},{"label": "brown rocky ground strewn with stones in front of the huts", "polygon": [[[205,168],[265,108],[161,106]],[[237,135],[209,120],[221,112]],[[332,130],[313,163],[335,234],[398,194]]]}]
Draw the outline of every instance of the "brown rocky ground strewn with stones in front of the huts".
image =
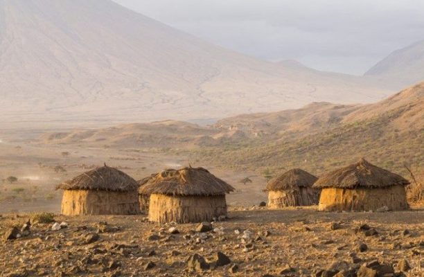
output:
[{"label": "brown rocky ground strewn with stones in front of the huts", "polygon": [[422,208],[230,211],[211,226],[33,217],[0,217],[1,276],[424,276]]}]

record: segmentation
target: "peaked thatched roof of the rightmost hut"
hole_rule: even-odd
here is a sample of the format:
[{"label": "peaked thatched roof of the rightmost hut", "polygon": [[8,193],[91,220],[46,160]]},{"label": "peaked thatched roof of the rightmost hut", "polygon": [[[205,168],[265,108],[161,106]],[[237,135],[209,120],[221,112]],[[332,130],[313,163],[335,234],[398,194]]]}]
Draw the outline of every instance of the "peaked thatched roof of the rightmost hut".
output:
[{"label": "peaked thatched roof of the rightmost hut", "polygon": [[388,170],[374,166],[361,159],[345,168],[334,170],[319,177],[314,188],[385,188],[389,186],[406,186],[407,179]]}]

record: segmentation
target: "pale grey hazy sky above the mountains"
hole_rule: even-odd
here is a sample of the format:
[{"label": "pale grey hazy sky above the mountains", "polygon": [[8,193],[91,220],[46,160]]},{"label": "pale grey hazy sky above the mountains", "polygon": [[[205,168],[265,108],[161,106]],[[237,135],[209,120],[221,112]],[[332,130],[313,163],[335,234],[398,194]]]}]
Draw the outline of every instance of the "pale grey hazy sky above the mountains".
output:
[{"label": "pale grey hazy sky above the mountains", "polygon": [[424,39],[423,0],[114,0],[264,60],[362,75]]}]

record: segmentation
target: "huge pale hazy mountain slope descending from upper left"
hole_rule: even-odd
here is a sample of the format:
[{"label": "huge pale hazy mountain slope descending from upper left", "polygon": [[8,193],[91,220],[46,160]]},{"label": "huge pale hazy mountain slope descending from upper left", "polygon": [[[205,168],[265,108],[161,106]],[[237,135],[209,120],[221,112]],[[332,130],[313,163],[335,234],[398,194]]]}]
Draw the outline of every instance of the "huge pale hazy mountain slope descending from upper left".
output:
[{"label": "huge pale hazy mountain slope descending from upper left", "polygon": [[217,118],[391,91],[255,60],[109,0],[0,0],[0,79],[0,127]]}]

